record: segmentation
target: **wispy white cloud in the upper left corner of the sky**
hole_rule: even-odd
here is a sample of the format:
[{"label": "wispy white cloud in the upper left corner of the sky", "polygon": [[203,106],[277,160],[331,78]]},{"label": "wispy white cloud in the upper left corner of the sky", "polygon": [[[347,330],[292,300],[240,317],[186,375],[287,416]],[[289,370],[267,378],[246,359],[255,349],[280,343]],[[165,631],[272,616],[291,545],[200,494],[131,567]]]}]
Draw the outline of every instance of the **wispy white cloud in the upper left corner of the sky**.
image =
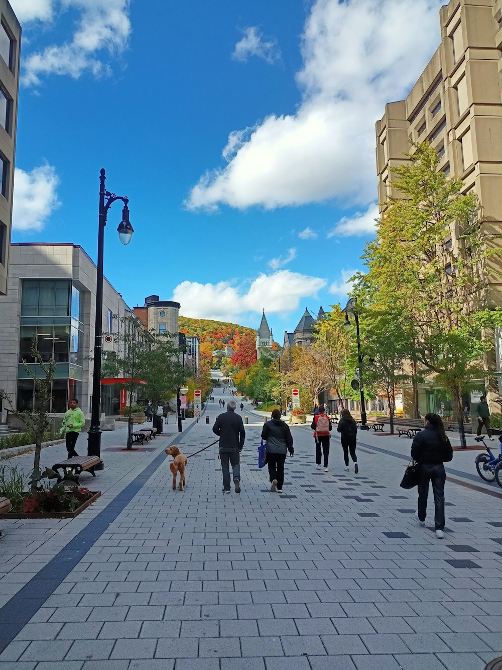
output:
[{"label": "wispy white cloud in the upper left corner of the sky", "polygon": [[[44,50],[23,57],[21,81],[25,86],[38,86],[43,76],[70,75],[78,79],[88,71],[93,76],[111,72],[103,62],[109,56],[120,54],[128,46],[131,34],[129,3],[131,0],[60,0],[62,9],[80,11],[80,20],[71,40],[52,44]],[[19,5],[26,20],[52,21],[56,1],[42,0],[41,9],[29,0],[13,0],[13,9]]]}]

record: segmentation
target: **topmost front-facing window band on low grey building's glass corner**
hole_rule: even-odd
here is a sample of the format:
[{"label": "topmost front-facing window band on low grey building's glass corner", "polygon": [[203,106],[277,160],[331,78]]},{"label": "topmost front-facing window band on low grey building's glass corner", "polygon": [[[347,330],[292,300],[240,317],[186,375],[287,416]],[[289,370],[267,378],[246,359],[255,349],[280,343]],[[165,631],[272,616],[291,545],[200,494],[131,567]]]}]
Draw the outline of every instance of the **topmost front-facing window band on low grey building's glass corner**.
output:
[{"label": "topmost front-facing window band on low grey building's glass corner", "polygon": [[70,290],[64,279],[24,279],[21,316],[69,316]]}]

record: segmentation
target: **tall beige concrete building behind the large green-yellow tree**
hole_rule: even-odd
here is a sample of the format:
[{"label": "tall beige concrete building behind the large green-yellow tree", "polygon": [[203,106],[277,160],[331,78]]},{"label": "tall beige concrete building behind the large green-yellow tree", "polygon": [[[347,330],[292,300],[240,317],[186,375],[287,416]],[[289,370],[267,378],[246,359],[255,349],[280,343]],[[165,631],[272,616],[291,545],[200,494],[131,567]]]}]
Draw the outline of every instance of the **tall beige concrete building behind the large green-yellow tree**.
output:
[{"label": "tall beige concrete building behind the large green-yellow tree", "polygon": [[[391,170],[406,163],[410,140],[428,140],[442,156],[439,169],[462,178],[464,192],[479,196],[481,235],[489,241],[500,234],[502,222],[502,0],[450,0],[440,9],[439,21],[438,50],[408,97],[388,103],[376,123],[378,200],[399,195]],[[453,229],[446,243],[455,245],[455,235]],[[499,259],[490,262],[501,269]],[[489,281],[488,306],[501,306],[501,279],[491,275]],[[479,380],[478,388],[466,394],[465,406],[479,397],[484,384]],[[492,396],[498,393],[493,389]],[[448,413],[449,402],[433,384],[420,389],[421,411]]]}]

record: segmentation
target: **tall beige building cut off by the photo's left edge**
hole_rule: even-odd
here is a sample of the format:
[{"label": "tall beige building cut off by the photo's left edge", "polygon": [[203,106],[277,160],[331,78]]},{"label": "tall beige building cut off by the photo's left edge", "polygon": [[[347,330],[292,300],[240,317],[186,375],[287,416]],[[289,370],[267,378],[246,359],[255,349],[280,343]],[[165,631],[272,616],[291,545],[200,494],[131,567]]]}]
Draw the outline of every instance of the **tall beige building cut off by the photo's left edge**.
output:
[{"label": "tall beige building cut off by the photo's left edge", "polygon": [[7,292],[9,269],[20,53],[21,26],[0,0],[0,295]]}]

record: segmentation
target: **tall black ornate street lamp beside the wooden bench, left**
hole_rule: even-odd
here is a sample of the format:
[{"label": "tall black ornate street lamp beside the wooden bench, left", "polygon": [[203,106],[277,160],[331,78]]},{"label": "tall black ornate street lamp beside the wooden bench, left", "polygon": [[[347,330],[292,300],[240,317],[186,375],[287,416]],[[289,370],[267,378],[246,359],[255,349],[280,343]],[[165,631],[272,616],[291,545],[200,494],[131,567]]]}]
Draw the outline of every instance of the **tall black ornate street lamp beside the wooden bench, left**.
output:
[{"label": "tall black ornate street lamp beside the wooden bench, left", "polygon": [[[106,226],[106,216],[110,206],[116,200],[122,200],[122,221],[118,224],[118,239],[122,245],[129,245],[133,237],[133,226],[129,222],[129,198],[116,196],[114,193],[105,190],[104,182],[106,172],[102,168],[100,173],[99,188],[99,217],[98,217],[98,271],[96,275],[96,322],[94,329],[94,364],[92,377],[92,406],[91,421],[88,432],[87,455],[98,456],[101,458],[101,425],[100,425],[100,405],[101,405],[101,356],[102,356],[102,328],[103,328],[103,256],[104,256],[104,226]],[[102,470],[103,464],[96,466],[96,470]]]}]

